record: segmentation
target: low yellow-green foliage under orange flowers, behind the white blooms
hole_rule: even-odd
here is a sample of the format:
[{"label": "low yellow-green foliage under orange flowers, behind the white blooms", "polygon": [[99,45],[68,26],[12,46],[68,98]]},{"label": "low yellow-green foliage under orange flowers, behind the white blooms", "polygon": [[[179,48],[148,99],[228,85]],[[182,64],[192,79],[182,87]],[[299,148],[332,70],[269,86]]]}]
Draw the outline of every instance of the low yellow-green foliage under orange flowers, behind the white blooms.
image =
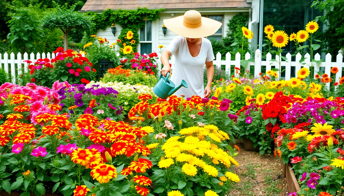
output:
[{"label": "low yellow-green foliage under orange flowers, behind the white blooms", "polygon": [[112,74],[106,73],[101,79],[101,82],[108,83],[108,82],[122,82],[123,84],[142,84],[145,86],[153,87],[157,84],[158,79],[155,75],[149,75],[142,72],[135,72],[131,71],[130,76],[126,74]]}]

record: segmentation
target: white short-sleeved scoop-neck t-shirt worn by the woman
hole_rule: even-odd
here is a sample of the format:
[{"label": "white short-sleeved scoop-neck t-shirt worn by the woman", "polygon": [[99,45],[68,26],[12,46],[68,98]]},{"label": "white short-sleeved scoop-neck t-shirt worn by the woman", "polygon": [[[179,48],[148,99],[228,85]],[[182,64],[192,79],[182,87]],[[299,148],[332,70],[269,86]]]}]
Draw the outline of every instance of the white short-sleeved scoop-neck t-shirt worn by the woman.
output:
[{"label": "white short-sleeved scoop-neck t-shirt worn by the woman", "polygon": [[179,86],[183,79],[189,86],[181,87],[174,95],[185,95],[185,98],[198,95],[203,98],[204,64],[215,59],[211,42],[202,37],[201,50],[197,57],[191,56],[186,38],[182,36],[175,37],[166,50],[175,56],[171,81],[175,86]]}]

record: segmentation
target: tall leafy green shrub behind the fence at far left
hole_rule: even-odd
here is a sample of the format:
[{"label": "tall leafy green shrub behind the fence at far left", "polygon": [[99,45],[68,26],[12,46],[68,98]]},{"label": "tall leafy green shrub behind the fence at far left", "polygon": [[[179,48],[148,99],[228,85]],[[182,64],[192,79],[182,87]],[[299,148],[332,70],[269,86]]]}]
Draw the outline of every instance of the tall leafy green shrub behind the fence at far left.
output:
[{"label": "tall leafy green shrub behind the fence at far left", "polygon": [[8,14],[11,17],[11,20],[7,22],[10,27],[8,38],[15,52],[24,53],[28,48],[34,47],[34,44],[43,37],[36,9],[38,6],[24,7],[20,1],[13,3],[15,6],[10,7],[11,13]]}]

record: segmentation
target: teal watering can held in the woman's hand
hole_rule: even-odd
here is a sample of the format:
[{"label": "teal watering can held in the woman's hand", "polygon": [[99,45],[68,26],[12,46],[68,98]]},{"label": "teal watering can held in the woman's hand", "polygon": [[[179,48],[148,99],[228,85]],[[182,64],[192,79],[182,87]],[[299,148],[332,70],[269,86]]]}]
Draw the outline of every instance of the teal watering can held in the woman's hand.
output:
[{"label": "teal watering can held in the woman's hand", "polygon": [[157,95],[161,99],[167,99],[182,86],[184,86],[185,88],[189,87],[184,80],[182,80],[182,83],[179,86],[175,87],[175,84],[169,80],[169,76],[170,72],[167,73],[166,77],[163,77],[162,74],[160,74],[159,81],[153,88],[155,95]]}]

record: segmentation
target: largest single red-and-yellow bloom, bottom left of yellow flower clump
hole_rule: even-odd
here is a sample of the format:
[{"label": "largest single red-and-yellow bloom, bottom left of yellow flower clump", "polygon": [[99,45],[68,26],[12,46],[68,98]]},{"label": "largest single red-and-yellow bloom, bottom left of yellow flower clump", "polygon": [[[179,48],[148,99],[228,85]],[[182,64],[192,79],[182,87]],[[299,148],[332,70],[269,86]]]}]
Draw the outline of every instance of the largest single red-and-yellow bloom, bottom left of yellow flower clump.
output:
[{"label": "largest single red-and-yellow bloom, bottom left of yellow flower clump", "polygon": [[93,180],[96,179],[99,183],[108,183],[110,179],[117,178],[116,168],[104,163],[94,167],[90,174]]}]

